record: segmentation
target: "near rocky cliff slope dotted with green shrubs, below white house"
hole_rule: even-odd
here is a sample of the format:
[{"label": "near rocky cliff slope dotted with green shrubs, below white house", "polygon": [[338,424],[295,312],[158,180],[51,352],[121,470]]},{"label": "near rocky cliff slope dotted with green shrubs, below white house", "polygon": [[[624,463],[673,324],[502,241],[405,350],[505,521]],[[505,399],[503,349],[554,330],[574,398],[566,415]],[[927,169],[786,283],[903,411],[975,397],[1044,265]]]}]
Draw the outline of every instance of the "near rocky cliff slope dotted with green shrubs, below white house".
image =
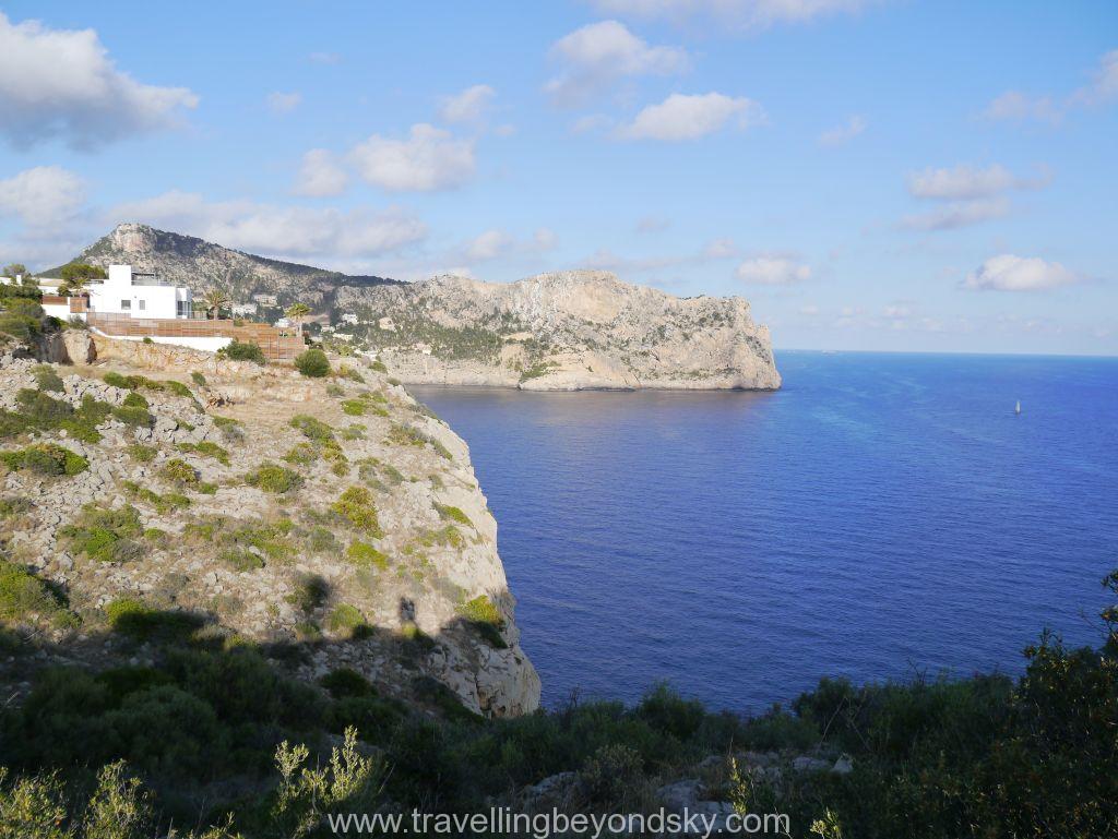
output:
[{"label": "near rocky cliff slope dotted with green shrubs, below white house", "polygon": [[[96,352],[107,366],[54,366],[61,389],[42,391],[41,368],[0,357],[6,420],[28,410],[28,392],[103,406],[92,437],[12,421],[0,439],[88,461],[57,477],[0,466],[0,497],[21,511],[0,516],[0,553],[68,597],[73,620],[45,630],[60,656],[157,655],[113,640],[111,604],[135,599],[210,633],[293,642],[301,654],[284,666],[309,680],[345,666],[411,702],[430,700],[434,679],[485,715],[538,706],[470,452],[401,387],[367,368],[315,381],[179,347],[102,339]],[[150,419],[138,421],[110,412],[130,391],[102,381],[108,369],[179,384],[140,382]],[[83,528],[97,526],[115,535],[91,547]]]}]

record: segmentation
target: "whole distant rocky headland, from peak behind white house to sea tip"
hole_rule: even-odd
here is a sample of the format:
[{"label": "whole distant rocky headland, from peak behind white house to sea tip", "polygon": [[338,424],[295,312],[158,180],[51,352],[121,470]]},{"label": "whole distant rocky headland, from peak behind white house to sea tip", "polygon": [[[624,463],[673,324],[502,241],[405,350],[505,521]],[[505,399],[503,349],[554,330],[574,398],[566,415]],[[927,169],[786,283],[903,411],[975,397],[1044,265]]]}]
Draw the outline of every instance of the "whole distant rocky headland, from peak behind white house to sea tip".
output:
[{"label": "whole distant rocky headland, from peak behind white house to sea tip", "polygon": [[407,383],[530,390],[723,390],[780,387],[768,327],[741,297],[680,298],[572,270],[517,283],[352,277],[120,225],[83,261],[127,263],[200,292],[256,298],[274,321],[296,299]]}]

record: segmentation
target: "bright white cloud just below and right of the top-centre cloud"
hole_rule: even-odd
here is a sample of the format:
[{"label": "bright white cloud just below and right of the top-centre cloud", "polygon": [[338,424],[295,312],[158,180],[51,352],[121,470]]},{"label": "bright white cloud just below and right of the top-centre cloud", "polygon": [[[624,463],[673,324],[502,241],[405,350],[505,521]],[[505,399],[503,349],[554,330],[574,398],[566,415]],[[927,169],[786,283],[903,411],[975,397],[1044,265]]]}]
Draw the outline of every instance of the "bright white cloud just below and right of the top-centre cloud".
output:
[{"label": "bright white cloud just below and right of the top-centre cloud", "polygon": [[765,111],[745,96],[720,93],[686,96],[673,93],[659,105],[648,105],[616,135],[625,140],[698,140],[732,123],[741,130],[762,125]]}]

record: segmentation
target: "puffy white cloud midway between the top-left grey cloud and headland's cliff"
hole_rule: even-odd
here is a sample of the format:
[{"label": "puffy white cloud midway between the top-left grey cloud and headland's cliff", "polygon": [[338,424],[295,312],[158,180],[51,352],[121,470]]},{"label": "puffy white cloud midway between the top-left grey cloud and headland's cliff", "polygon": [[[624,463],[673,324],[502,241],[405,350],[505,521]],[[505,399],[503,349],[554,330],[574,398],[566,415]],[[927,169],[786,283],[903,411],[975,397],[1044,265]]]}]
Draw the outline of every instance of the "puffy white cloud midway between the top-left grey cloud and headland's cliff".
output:
[{"label": "puffy white cloud midway between the top-left grey cloud and headland's cliff", "polygon": [[420,123],[407,140],[373,134],[356,145],[350,162],[366,181],[390,191],[430,192],[461,187],[474,174],[474,144]]}]

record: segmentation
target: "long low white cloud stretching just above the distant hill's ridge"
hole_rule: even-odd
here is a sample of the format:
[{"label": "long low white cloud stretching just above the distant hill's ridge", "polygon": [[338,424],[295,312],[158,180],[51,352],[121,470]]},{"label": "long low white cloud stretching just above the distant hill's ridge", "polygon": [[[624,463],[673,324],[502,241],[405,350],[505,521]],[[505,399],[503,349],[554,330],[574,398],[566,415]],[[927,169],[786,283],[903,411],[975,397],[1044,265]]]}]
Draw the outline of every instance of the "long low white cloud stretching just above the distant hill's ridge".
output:
[{"label": "long low white cloud stretching just above the distant hill's ridge", "polygon": [[424,239],[427,227],[397,209],[342,212],[252,201],[206,201],[165,192],[112,210],[112,221],[135,220],[267,256],[362,257],[387,254]]}]

